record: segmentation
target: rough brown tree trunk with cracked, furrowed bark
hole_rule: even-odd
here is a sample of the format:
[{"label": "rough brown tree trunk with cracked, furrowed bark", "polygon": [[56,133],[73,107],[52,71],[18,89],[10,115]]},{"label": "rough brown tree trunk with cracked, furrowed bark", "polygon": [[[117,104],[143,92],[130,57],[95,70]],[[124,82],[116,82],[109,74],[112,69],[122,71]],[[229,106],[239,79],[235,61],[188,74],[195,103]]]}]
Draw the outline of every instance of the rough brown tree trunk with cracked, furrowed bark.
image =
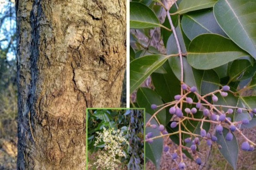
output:
[{"label": "rough brown tree trunk with cracked, furrowed bark", "polygon": [[17,0],[19,170],[84,170],[87,107],[118,107],[125,0]]}]

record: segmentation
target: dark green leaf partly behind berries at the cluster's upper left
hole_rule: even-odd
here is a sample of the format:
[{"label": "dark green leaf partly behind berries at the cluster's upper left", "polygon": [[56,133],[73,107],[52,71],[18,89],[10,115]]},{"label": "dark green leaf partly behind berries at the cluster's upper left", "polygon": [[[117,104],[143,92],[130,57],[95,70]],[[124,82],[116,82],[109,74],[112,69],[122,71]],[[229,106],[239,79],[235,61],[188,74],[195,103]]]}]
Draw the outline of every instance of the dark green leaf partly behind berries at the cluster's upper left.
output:
[{"label": "dark green leaf partly behind berries at the cluster's upper left", "polygon": [[[164,104],[160,96],[151,89],[140,87],[136,96],[137,104],[140,108],[145,108],[147,112],[153,115],[158,109],[151,109],[151,104],[162,105]],[[169,120],[166,119],[166,110],[161,110],[156,115],[158,121],[162,125],[166,125]]]}]

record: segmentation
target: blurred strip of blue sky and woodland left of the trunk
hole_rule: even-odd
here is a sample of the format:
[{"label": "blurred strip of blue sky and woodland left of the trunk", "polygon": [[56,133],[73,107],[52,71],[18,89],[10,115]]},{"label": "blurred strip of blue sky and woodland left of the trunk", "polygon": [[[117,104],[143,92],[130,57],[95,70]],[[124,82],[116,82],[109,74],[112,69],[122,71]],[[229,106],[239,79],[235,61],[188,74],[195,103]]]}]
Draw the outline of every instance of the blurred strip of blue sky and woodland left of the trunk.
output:
[{"label": "blurred strip of blue sky and woodland left of the trunk", "polygon": [[0,170],[16,169],[17,110],[16,11],[0,0]]}]

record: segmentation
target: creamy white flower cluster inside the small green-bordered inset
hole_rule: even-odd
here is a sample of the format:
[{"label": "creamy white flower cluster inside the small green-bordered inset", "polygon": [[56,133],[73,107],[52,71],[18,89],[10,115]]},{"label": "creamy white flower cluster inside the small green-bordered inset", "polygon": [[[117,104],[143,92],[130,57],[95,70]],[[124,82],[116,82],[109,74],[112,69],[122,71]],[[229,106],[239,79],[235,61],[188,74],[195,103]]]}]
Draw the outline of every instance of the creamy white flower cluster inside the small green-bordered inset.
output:
[{"label": "creamy white flower cluster inside the small green-bordered inset", "polygon": [[96,132],[98,136],[96,137],[95,146],[104,141],[105,146],[102,151],[98,154],[98,160],[94,163],[98,167],[102,167],[108,170],[115,170],[120,164],[120,160],[116,159],[116,156],[125,157],[125,154],[121,150],[121,145],[123,142],[129,144],[128,141],[122,136],[123,133],[120,130],[115,130],[114,128],[106,129],[103,127],[103,132]]}]

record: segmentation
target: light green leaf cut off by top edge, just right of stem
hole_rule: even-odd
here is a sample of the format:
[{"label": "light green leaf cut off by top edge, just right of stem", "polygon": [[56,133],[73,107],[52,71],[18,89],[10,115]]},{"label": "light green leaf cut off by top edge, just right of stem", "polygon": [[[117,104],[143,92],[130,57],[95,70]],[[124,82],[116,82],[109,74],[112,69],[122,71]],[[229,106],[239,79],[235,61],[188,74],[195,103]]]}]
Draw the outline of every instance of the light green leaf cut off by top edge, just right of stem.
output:
[{"label": "light green leaf cut off by top edge, just right of stem", "polygon": [[194,10],[213,7],[217,0],[182,0],[177,13],[183,14]]}]

